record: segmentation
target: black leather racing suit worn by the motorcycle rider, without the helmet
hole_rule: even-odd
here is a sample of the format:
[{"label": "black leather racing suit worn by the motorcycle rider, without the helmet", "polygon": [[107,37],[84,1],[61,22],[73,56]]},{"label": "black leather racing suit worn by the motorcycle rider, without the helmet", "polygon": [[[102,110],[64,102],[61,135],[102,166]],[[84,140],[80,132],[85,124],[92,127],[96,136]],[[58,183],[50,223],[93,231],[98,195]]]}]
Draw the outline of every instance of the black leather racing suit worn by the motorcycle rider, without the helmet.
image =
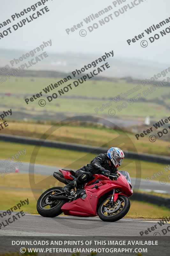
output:
[{"label": "black leather racing suit worn by the motorcycle rider, without the helmet", "polygon": [[71,181],[63,189],[68,193],[73,187],[92,180],[93,174],[102,173],[105,170],[116,174],[117,168],[113,164],[109,164],[107,154],[96,156],[89,164],[81,167],[75,172],[76,179]]}]

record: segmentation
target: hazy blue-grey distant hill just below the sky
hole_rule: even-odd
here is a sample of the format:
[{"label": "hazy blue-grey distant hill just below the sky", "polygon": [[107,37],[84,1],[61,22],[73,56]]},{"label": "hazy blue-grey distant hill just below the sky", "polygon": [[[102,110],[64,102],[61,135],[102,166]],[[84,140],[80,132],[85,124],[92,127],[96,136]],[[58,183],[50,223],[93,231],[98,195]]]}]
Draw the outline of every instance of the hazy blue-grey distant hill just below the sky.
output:
[{"label": "hazy blue-grey distant hill just below the sky", "polygon": [[[27,52],[29,52],[28,50]],[[82,53],[50,53],[48,52],[48,47],[44,50],[48,53],[48,58],[42,60],[37,63],[35,66],[31,68],[33,70],[51,70],[57,72],[66,72],[70,73],[76,68],[82,68],[84,65],[91,63],[93,60],[96,60],[100,56],[104,54],[104,52],[99,53],[98,55],[94,54],[82,54]],[[9,64],[10,60],[14,58],[19,58],[22,54],[25,54],[26,51],[18,51],[18,50],[5,50],[0,49],[0,66]],[[42,52],[40,52],[42,53]],[[36,55],[38,56],[38,54]],[[31,60],[27,58],[26,61]],[[112,68],[107,69],[107,72],[102,74],[102,76],[108,77],[127,77],[130,76],[132,78],[150,78],[154,74],[161,72],[162,70],[168,68],[168,64],[155,63],[152,61],[138,60],[138,59],[127,59],[127,58],[108,58],[108,63]],[[23,62],[20,62],[17,66],[19,67]],[[102,64],[102,63],[101,63]]]}]

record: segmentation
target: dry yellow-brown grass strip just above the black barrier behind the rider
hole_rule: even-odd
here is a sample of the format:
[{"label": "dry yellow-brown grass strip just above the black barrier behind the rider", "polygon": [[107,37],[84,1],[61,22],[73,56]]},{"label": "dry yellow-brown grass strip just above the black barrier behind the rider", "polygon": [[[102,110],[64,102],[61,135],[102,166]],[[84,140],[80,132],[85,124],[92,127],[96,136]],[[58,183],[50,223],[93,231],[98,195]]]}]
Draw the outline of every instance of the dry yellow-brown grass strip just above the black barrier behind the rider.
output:
[{"label": "dry yellow-brown grass strip just above the black barrier behind the rider", "polygon": [[[170,155],[170,145],[168,141],[156,140],[151,143],[149,136],[137,140],[135,135],[130,132],[116,131],[106,127],[78,126],[77,123],[70,125],[55,125],[53,131],[48,131],[52,125],[36,124],[25,122],[8,122],[9,126],[3,130],[4,133],[11,135],[28,136],[41,138],[45,133],[48,140],[57,140],[70,143],[86,144],[99,147],[121,147],[123,150],[149,153],[156,155]],[[120,136],[120,137],[119,137]]]}]

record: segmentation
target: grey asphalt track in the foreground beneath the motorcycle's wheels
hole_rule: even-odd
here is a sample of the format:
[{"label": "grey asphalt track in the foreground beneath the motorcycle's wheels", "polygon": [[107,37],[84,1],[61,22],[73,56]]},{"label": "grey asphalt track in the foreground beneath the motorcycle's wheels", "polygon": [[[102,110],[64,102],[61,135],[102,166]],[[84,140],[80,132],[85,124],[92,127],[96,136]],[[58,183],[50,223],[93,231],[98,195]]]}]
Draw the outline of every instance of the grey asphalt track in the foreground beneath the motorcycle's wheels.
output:
[{"label": "grey asphalt track in the foreground beneath the motorcycle's wheels", "polygon": [[[24,206],[23,206],[24,210]],[[0,211],[1,213],[3,211]],[[12,213],[12,214],[16,214]],[[12,214],[9,216],[11,217]],[[4,219],[8,219],[5,217]],[[3,218],[1,218],[1,222]],[[0,236],[140,236],[141,231],[157,225],[154,231],[144,236],[164,236],[162,229],[170,226],[165,223],[160,227],[158,220],[122,219],[116,222],[104,222],[100,218],[79,218],[59,216],[44,218],[27,214],[6,227],[1,227]],[[5,223],[5,222],[4,222]],[[158,234],[159,233],[159,234]],[[165,236],[170,236],[167,232]]]}]

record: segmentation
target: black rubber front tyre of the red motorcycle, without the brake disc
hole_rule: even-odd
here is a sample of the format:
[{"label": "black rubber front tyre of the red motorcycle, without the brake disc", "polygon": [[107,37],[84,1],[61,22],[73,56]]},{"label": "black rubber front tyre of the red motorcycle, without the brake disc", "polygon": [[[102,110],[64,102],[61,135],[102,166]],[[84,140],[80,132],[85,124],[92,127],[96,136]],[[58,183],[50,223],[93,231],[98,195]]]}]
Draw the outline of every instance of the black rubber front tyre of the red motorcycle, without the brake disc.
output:
[{"label": "black rubber front tyre of the red motorcycle, without the brake disc", "polygon": [[[99,218],[103,221],[117,221],[122,219],[128,212],[130,209],[130,201],[129,198],[127,196],[118,196],[118,199],[116,201],[117,204],[120,204],[120,202],[124,203],[124,206],[121,210],[119,210],[121,208],[121,206],[117,209],[117,211],[113,212],[114,215],[110,215],[107,216],[104,213],[106,213],[106,208],[103,204],[106,203],[106,201],[109,199],[109,197],[105,198],[103,200],[103,202],[100,204],[99,209],[98,209],[98,214],[99,214]],[[122,205],[122,204],[121,204]],[[108,210],[108,209],[107,209]],[[117,213],[116,213],[117,212]],[[110,214],[110,213],[107,213]]]}]

